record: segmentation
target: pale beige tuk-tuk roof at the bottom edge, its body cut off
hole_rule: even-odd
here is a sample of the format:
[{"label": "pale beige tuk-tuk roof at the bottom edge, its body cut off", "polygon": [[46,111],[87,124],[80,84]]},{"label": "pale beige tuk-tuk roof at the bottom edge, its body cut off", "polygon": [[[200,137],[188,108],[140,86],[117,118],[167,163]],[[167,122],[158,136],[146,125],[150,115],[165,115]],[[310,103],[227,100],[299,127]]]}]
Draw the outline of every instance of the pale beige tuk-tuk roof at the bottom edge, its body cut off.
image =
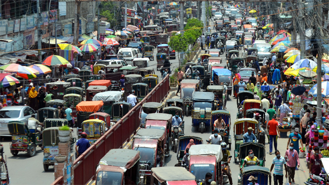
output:
[{"label": "pale beige tuk-tuk roof at the bottom edge, its body cut off", "polygon": [[153,176],[160,182],[194,180],[195,176],[183,167],[152,168]]}]

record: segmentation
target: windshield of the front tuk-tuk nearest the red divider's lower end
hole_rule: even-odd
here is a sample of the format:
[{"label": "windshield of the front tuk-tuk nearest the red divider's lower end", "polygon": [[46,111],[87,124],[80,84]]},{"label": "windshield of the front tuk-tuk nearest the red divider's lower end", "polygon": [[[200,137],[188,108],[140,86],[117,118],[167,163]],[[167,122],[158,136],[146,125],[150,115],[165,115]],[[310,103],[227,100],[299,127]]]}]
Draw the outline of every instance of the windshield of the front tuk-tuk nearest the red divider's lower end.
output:
[{"label": "windshield of the front tuk-tuk nearest the red divider's lower end", "polygon": [[121,184],[122,174],[120,172],[100,171],[97,174],[97,185]]}]

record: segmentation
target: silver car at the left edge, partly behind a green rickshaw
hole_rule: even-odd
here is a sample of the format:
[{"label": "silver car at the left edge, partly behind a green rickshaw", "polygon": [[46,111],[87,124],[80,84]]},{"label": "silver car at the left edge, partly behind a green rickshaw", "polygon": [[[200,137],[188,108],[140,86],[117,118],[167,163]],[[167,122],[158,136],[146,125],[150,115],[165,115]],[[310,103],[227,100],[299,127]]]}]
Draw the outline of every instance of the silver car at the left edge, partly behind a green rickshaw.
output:
[{"label": "silver car at the left edge, partly behind a green rickshaw", "polygon": [[7,106],[0,110],[0,136],[10,136],[8,130],[9,121],[23,121],[27,120],[32,114],[36,112],[29,106]]}]

